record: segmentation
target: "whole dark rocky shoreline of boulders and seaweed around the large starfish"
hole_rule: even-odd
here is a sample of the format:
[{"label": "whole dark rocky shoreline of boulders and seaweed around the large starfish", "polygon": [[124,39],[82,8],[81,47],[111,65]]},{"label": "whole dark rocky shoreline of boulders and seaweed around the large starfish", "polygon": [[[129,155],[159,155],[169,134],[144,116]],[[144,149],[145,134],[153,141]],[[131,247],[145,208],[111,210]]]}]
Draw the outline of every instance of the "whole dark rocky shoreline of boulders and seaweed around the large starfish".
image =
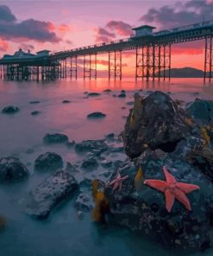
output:
[{"label": "whole dark rocky shoreline of boulders and seaweed around the large starfish", "polygon": [[[60,202],[74,198],[79,216],[92,211],[94,221],[128,227],[141,239],[146,235],[168,248],[204,251],[213,241],[213,103],[197,99],[183,108],[168,94],[154,92],[144,98],[135,94],[128,105],[133,108],[119,137],[111,133],[80,143],[59,133],[43,138],[49,146],[73,148],[83,160],[64,168],[54,152],[38,156],[34,170],[49,175],[26,196],[25,212],[46,219]],[[144,183],[166,181],[164,166],[177,182],[199,187],[187,193],[191,211],[176,198],[168,212],[164,193]],[[97,168],[104,171],[93,175]],[[28,169],[19,159],[0,159],[2,183],[26,178]]]}]

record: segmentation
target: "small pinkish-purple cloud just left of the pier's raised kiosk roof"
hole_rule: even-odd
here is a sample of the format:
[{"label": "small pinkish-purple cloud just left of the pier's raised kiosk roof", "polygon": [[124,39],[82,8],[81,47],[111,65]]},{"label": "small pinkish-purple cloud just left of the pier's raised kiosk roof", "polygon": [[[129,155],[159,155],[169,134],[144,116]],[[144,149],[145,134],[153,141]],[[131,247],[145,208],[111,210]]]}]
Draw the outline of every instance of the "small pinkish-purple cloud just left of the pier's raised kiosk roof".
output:
[{"label": "small pinkish-purple cloud just left of the pier's raised kiosk roof", "polygon": [[106,27],[112,31],[115,31],[117,35],[131,35],[132,26],[122,21],[110,21],[106,24]]}]

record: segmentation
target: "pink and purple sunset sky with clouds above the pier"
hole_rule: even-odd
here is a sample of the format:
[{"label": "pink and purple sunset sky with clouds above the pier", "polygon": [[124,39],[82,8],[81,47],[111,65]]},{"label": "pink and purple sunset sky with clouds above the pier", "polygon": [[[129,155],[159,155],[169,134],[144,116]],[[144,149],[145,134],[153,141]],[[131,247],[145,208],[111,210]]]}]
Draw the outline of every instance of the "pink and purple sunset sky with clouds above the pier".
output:
[{"label": "pink and purple sunset sky with clouds above the pier", "polygon": [[[78,48],[128,37],[132,27],[145,23],[168,29],[201,22],[203,16],[213,19],[212,1],[1,1],[0,56],[19,47],[33,52]],[[128,54],[124,63],[125,73],[135,74],[135,56]],[[204,42],[172,46],[172,67],[203,69]],[[98,68],[107,68],[106,63]]]}]

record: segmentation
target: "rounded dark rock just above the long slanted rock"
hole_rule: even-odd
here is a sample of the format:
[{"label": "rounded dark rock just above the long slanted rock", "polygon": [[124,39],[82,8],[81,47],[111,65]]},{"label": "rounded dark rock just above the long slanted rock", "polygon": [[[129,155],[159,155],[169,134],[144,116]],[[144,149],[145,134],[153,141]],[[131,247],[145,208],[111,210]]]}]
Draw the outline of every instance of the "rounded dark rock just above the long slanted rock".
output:
[{"label": "rounded dark rock just above the long slanted rock", "polygon": [[60,155],[47,152],[41,154],[34,161],[34,170],[57,170],[63,167],[63,160]]}]

